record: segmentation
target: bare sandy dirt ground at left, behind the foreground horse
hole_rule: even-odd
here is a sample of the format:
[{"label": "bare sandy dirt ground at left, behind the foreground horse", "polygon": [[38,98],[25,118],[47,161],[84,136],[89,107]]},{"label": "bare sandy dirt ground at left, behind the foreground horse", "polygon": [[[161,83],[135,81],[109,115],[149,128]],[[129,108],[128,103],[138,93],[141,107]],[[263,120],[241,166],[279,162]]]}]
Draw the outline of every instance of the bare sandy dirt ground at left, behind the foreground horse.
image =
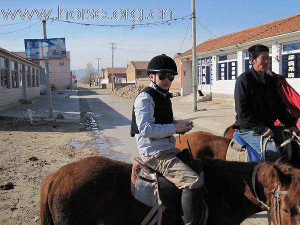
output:
[{"label": "bare sandy dirt ground at left, behind the foreground horse", "polygon": [[[32,125],[3,118],[0,127],[0,224],[39,224],[42,178],[66,163],[95,154],[89,147],[93,132],[80,123]],[[70,141],[82,148],[76,150]]]}]

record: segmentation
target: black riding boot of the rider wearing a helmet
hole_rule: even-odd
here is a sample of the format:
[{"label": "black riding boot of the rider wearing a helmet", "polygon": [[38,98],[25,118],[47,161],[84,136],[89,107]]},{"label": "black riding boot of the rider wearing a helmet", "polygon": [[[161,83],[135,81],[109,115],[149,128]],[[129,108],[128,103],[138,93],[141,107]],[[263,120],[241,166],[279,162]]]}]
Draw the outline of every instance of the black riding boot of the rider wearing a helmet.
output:
[{"label": "black riding boot of the rider wearing a helmet", "polygon": [[181,195],[181,219],[185,225],[198,224],[202,188],[183,189]]}]

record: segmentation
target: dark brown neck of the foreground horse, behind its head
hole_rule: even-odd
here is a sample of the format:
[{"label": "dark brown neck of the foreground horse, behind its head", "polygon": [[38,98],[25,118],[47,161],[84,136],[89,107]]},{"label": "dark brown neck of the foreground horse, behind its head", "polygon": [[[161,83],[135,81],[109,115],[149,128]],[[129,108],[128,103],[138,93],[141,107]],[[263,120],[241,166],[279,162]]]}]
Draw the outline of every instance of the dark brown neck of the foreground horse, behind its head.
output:
[{"label": "dark brown neck of the foreground horse, behind its head", "polygon": [[[255,163],[224,161],[218,159],[202,159],[204,164],[204,182],[209,192],[219,195],[214,199],[222,199],[230,205],[220,210],[228,210],[237,221],[262,211],[251,187],[252,171]],[[211,178],[213,177],[213,178]],[[220,202],[214,202],[214,205]],[[238,217],[239,216],[239,217]],[[232,218],[233,219],[233,218]],[[233,223],[232,223],[233,224]]]}]

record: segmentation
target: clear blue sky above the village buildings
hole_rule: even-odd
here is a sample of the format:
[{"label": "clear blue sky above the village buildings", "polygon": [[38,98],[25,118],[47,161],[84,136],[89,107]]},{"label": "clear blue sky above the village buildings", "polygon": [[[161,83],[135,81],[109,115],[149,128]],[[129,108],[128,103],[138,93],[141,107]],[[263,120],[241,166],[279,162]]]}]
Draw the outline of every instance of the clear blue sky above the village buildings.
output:
[{"label": "clear blue sky above the village buildings", "polygon": [[[195,0],[195,4],[197,44],[214,36],[228,34],[300,12],[299,0]],[[10,9],[13,13],[19,9],[23,13],[25,9],[29,12],[37,9],[40,13],[44,9],[46,13],[51,10],[49,17],[57,17],[58,6],[60,9],[67,10],[68,13],[73,9],[73,19],[68,16],[68,21],[112,26],[80,25],[47,20],[47,38],[65,37],[66,49],[71,52],[71,69],[85,68],[88,62],[97,68],[96,57],[101,58],[99,67],[111,67],[112,49],[109,44],[111,42],[117,43],[114,49],[114,66],[126,66],[129,61],[147,61],[161,53],[172,57],[176,52],[184,52],[191,48],[191,20],[189,19],[171,21],[169,25],[138,25],[147,22],[165,22],[169,19],[168,16],[164,19],[151,19],[149,12],[152,9],[154,9],[152,17],[155,18],[160,15],[158,10],[162,9],[169,9],[172,12],[172,19],[190,15],[190,0],[2,1],[0,5],[0,10],[2,9],[0,11],[0,47],[10,51],[24,51],[23,39],[43,38],[41,20],[34,19],[37,18],[35,14],[31,19],[26,17],[22,20],[17,12],[14,19],[9,17],[4,19],[2,12],[6,14]],[[94,14],[97,9],[103,9],[106,17],[87,19],[91,18],[91,15],[85,11],[84,19],[82,19],[82,13],[80,18],[75,19],[78,15],[75,9],[81,12],[82,9],[86,9],[86,11],[91,9],[90,14]],[[121,11],[125,12],[126,9],[128,9],[127,19],[125,17],[119,20],[113,18],[114,11],[115,16],[120,18]],[[137,18],[142,9],[142,21],[136,23],[131,21],[130,13],[134,9],[136,10],[133,16],[136,21],[138,21]],[[99,13],[103,11],[99,11]],[[63,17],[62,19],[65,19],[64,11],[60,15]],[[97,16],[100,18],[103,15],[98,14]],[[110,20],[109,16],[112,17]],[[148,19],[144,19],[146,16]],[[131,30],[130,27],[114,27],[126,24],[129,26],[135,24],[135,26]]]}]

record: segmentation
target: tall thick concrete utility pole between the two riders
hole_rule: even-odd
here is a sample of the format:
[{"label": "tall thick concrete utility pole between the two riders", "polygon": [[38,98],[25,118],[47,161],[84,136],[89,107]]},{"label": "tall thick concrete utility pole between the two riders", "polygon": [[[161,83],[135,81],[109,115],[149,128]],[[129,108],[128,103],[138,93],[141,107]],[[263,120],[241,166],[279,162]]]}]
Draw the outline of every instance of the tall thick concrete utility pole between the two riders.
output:
[{"label": "tall thick concrete utility pole between the two riders", "polygon": [[191,0],[191,29],[192,29],[192,107],[197,111],[197,92],[198,92],[198,76],[197,76],[197,58],[196,58],[196,12],[195,0]]}]

